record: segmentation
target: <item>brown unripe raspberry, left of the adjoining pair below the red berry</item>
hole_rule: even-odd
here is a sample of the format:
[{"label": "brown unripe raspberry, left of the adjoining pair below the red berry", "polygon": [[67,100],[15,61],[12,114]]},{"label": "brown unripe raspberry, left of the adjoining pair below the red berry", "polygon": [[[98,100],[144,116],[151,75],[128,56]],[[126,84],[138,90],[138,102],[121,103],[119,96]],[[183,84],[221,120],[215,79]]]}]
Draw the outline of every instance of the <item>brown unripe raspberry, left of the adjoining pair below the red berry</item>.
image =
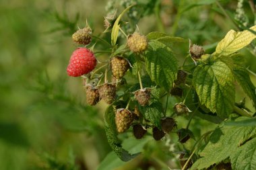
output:
[{"label": "brown unripe raspberry, left of the adjoining pair below the red berry", "polygon": [[96,105],[100,101],[100,93],[97,88],[89,86],[86,90],[86,102],[89,105]]}]

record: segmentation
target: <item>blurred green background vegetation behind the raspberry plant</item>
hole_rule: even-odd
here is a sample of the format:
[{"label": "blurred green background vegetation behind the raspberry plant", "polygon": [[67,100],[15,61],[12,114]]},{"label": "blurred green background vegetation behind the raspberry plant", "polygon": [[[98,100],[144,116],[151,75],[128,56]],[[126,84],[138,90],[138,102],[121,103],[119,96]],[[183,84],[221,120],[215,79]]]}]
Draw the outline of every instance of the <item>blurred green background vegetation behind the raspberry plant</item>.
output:
[{"label": "blurred green background vegetation behind the raspberry plant", "polygon": [[[139,20],[143,34],[164,31],[190,38],[213,52],[228,30],[236,30],[214,1],[157,2],[158,7]],[[65,71],[76,48],[71,34],[77,26],[84,27],[86,19],[95,35],[103,32],[107,4],[110,3],[101,0],[0,1],[0,169],[96,169],[111,151],[104,134],[106,105],[87,106],[82,79],[67,77]],[[114,4],[119,13],[124,9],[119,1]],[[234,18],[237,1],[221,4]],[[248,26],[253,26],[254,13],[249,3],[244,5]],[[179,48],[177,57],[181,63],[188,50],[188,45]],[[241,52],[247,67],[256,73],[255,49]],[[251,79],[256,84],[255,75],[251,74]],[[245,95],[240,88],[237,91],[239,101]],[[253,110],[247,101],[247,107]],[[191,123],[195,130],[201,130],[195,125],[198,122],[207,125],[195,119]],[[214,126],[208,125],[204,130]],[[162,165],[161,159],[167,160],[158,151],[162,145],[151,145],[147,152],[162,156],[147,160],[154,160],[152,165]],[[116,159],[115,155],[111,157]],[[135,160],[130,164],[139,163]],[[135,168],[128,163],[123,169]]]}]

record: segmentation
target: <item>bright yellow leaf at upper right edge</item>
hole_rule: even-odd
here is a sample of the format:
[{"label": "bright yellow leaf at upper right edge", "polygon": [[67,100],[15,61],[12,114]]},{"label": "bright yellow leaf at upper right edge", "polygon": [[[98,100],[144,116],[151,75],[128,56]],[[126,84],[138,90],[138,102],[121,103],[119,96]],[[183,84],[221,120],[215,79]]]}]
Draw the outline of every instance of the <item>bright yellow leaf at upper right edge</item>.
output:
[{"label": "bright yellow leaf at upper right edge", "polygon": [[[251,27],[250,30],[256,31],[256,26]],[[226,34],[225,38],[217,45],[216,53],[227,56],[247,46],[255,38],[256,35],[249,30],[245,30],[243,32],[230,30],[228,34]]]}]

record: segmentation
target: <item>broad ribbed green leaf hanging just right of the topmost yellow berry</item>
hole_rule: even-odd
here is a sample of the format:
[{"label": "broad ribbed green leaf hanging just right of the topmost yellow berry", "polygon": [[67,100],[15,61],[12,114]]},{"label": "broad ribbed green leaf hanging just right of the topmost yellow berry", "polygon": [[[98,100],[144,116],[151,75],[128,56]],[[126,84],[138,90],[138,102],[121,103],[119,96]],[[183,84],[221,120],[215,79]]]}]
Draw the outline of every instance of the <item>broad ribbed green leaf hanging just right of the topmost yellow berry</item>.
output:
[{"label": "broad ribbed green leaf hanging just right of the topmost yellow berry", "polygon": [[157,40],[151,40],[145,60],[146,70],[152,81],[169,91],[178,71],[177,59],[172,50]]}]

